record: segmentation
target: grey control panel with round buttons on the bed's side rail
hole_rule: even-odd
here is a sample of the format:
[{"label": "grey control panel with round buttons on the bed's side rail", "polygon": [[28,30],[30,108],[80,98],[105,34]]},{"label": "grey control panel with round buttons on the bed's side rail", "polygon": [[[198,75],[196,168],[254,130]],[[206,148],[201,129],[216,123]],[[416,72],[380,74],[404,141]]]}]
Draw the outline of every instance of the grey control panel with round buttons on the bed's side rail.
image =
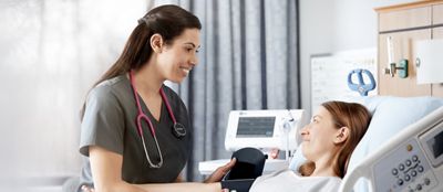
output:
[{"label": "grey control panel with round buttons on the bed's side rail", "polygon": [[423,130],[385,153],[373,164],[374,189],[380,192],[432,191],[442,185],[443,122]]}]

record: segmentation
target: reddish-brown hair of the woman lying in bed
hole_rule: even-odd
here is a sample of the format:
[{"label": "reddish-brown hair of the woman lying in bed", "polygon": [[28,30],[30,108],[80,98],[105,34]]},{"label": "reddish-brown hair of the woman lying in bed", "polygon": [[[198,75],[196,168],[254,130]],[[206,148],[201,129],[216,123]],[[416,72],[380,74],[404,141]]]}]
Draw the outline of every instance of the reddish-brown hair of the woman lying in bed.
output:
[{"label": "reddish-brown hair of the woman lying in bed", "polygon": [[[348,139],[339,143],[340,148],[336,151],[336,156],[330,159],[334,174],[343,178],[353,149],[356,149],[368,130],[371,114],[364,106],[356,103],[327,102],[321,106],[331,114],[337,129],[341,127],[349,128]],[[309,177],[315,169],[316,163],[308,161],[298,171],[301,175]]]}]

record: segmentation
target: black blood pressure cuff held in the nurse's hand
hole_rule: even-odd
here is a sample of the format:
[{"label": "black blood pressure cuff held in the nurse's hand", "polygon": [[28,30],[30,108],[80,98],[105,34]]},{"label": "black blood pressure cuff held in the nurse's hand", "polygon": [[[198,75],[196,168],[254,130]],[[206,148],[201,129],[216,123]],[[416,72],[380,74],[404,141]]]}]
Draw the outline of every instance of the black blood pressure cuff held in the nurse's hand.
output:
[{"label": "black blood pressure cuff held in the nurse's hand", "polygon": [[262,174],[267,156],[255,148],[243,148],[235,151],[231,158],[237,161],[223,178],[222,189],[248,192],[256,178]]}]

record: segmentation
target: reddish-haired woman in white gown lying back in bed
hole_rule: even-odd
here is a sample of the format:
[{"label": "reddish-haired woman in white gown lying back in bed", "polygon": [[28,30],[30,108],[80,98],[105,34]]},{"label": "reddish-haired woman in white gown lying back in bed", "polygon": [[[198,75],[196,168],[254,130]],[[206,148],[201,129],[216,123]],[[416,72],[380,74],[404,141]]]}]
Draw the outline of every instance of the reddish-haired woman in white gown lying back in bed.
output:
[{"label": "reddish-haired woman in white gown lying back in bed", "polygon": [[353,103],[323,103],[301,129],[302,153],[308,162],[298,172],[281,170],[257,178],[250,192],[338,191],[348,161],[368,129],[371,114]]}]

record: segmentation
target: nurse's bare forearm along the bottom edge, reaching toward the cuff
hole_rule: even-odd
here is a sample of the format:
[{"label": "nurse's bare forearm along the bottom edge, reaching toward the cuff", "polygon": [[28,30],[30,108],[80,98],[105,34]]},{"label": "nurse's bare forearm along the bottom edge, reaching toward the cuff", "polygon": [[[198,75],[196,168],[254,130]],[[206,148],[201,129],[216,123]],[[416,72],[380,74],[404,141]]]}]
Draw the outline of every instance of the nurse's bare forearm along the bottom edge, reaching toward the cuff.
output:
[{"label": "nurse's bare forearm along the bottom edge, reaching toward the cuff", "polygon": [[167,184],[138,184],[147,192],[220,192],[220,183],[167,183]]}]

